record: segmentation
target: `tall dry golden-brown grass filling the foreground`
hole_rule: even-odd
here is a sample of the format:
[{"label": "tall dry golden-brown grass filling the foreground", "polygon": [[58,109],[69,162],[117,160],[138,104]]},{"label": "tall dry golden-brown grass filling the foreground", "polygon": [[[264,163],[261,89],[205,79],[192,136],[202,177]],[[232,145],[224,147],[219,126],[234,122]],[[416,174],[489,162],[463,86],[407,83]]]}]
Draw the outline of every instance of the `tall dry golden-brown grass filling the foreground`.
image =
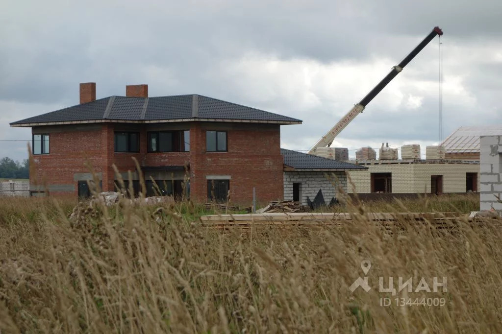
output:
[{"label": "tall dry golden-brown grass filling the foreground", "polygon": [[[471,195],[343,210],[451,212],[456,206],[466,213],[477,210],[476,201]],[[405,231],[389,233],[360,219],[341,229],[237,234],[198,226],[204,212],[189,204],[123,201],[82,207],[69,220],[75,204],[0,198],[1,333],[502,331],[496,219],[448,231],[403,222]],[[370,289],[351,292],[364,276]],[[412,291],[400,289],[399,277],[412,278]],[[447,286],[434,292],[434,277],[439,283],[446,277]]]}]

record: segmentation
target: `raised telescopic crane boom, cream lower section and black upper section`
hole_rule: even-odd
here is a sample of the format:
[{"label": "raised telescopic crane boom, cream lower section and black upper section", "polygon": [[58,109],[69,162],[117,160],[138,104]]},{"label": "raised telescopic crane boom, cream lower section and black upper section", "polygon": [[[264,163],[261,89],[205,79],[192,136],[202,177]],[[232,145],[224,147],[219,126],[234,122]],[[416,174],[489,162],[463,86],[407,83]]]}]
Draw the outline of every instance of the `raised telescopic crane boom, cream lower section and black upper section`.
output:
[{"label": "raised telescopic crane boom, cream lower section and black upper section", "polygon": [[410,52],[410,54],[408,54],[408,56],[406,56],[401,61],[401,63],[394,66],[391,72],[389,72],[389,74],[387,74],[387,76],[382,79],[382,81],[380,81],[378,85],[376,85],[366,96],[364,96],[364,98],[359,103],[354,105],[354,107],[350,109],[350,111],[345,116],[343,116],[342,119],[338,121],[338,123],[336,123],[325,135],[323,135],[322,138],[317,141],[317,143],[310,149],[308,153],[316,155],[317,148],[331,146],[331,143],[333,142],[335,137],[345,128],[345,126],[347,126],[355,116],[361,113],[366,105],[371,102],[371,100],[378,93],[380,93],[382,89],[384,89],[384,87],[387,86],[392,81],[392,79],[394,79],[420,51],[422,51],[423,48],[425,48],[425,46],[429,44],[429,42],[432,41],[434,37],[436,37],[436,35],[443,35],[443,31],[439,29],[439,27],[434,27],[432,32],[427,35],[427,37],[419,45],[417,45],[417,47],[413,49],[412,52]]}]

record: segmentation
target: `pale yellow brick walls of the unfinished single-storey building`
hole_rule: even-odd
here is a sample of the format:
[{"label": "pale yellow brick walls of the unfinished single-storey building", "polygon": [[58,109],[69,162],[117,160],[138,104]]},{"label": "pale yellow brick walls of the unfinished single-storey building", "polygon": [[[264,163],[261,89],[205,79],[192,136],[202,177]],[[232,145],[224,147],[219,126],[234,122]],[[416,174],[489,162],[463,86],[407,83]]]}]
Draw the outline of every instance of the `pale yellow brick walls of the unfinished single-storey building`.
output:
[{"label": "pale yellow brick walls of the unfinished single-storey building", "polygon": [[479,190],[479,164],[477,163],[378,163],[364,164],[367,171],[348,172],[349,193],[370,193],[371,173],[392,173],[392,193],[431,192],[431,176],[443,176],[443,193],[465,193],[467,173],[477,175]]}]

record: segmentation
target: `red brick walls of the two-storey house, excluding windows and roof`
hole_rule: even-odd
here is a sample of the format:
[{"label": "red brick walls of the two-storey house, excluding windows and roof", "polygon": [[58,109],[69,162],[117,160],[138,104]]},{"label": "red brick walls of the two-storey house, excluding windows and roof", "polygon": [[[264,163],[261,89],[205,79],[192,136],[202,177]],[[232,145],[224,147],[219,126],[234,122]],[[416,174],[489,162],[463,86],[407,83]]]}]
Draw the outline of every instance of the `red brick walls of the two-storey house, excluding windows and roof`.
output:
[{"label": "red brick walls of the two-storey house, excluding windows and roof", "polygon": [[[190,151],[149,153],[148,131],[190,130]],[[227,131],[227,151],[206,151],[206,130]],[[115,131],[140,132],[140,152],[114,152]],[[52,195],[77,195],[78,181],[91,180],[88,161],[102,181],[103,191],[112,191],[115,179],[112,164],[122,176],[133,172],[138,180],[135,157],[142,167],[189,165],[190,198],[207,201],[207,178],[229,177],[230,202],[249,204],[253,187],[260,201],[280,200],[283,197],[284,162],[280,152],[278,124],[246,124],[231,122],[180,123],[103,123],[92,125],[34,126],[34,134],[49,134],[49,154],[37,154],[35,171],[31,175],[31,189],[46,189]],[[148,172],[183,180],[185,173],[168,171]]]}]

